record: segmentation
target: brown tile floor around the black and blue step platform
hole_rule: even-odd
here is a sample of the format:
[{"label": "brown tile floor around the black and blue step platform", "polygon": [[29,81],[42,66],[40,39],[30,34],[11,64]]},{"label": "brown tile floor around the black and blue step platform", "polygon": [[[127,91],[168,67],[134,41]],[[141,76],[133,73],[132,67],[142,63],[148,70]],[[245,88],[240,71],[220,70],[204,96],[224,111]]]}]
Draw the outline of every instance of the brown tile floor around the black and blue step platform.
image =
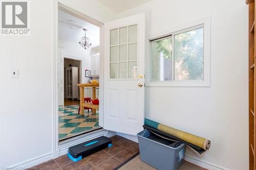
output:
[{"label": "brown tile floor around the black and blue step platform", "polygon": [[37,170],[112,170],[139,152],[138,143],[121,136],[111,137],[113,146],[96,152],[78,162],[71,161],[67,155],[39,164]]}]

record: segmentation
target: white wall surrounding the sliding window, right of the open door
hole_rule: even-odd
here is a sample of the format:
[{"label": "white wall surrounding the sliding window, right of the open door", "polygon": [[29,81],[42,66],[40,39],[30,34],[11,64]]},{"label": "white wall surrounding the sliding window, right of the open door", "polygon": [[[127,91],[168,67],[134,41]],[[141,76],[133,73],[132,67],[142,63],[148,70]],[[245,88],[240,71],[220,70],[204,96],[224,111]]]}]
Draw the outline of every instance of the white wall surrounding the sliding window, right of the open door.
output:
[{"label": "white wall surrounding the sliding window, right of the open door", "polygon": [[[211,16],[211,86],[146,87],[145,116],[211,140],[199,157],[248,169],[248,12],[245,1],[154,0],[119,14],[145,12],[146,36]],[[214,166],[212,166],[214,167]]]}]

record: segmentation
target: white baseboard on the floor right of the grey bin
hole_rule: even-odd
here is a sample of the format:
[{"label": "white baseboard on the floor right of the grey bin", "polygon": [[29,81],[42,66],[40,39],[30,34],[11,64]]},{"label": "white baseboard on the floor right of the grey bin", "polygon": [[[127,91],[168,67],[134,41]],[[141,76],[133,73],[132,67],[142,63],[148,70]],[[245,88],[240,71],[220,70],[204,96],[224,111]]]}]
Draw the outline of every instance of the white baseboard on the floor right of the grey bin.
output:
[{"label": "white baseboard on the floor right of the grey bin", "polygon": [[206,168],[209,170],[230,170],[228,168],[225,168],[225,167],[222,167],[222,166],[210,163],[210,162],[201,161],[199,159],[192,158],[189,156],[185,156],[185,161],[193,163],[195,165],[198,165],[200,167],[203,167],[203,168]]}]

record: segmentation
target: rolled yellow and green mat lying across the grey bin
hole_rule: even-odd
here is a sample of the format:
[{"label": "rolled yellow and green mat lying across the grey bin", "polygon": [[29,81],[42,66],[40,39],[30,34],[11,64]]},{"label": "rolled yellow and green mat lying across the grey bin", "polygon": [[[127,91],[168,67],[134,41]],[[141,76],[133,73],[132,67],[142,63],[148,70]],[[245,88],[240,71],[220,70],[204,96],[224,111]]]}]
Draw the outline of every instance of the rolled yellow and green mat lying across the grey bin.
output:
[{"label": "rolled yellow and green mat lying across the grey bin", "polygon": [[160,124],[158,122],[155,122],[155,121],[147,119],[147,118],[145,118],[144,124],[146,126],[158,129],[162,132],[165,132],[167,134],[175,136],[175,137],[177,137],[181,140],[184,140],[188,143],[194,144],[197,147],[202,148],[203,150],[209,150],[209,148],[210,148],[210,140],[208,140],[208,139],[205,139],[205,138],[202,138],[202,137],[199,137],[199,136],[187,133],[187,132],[183,132],[178,129],[174,129],[172,127]]}]

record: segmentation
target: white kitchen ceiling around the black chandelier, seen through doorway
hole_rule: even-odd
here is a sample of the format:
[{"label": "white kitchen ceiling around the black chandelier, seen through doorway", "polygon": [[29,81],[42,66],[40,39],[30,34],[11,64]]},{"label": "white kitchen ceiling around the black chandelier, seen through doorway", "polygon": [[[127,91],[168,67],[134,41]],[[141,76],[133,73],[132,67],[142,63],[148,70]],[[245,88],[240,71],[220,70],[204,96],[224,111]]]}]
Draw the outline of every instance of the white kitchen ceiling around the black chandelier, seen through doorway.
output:
[{"label": "white kitchen ceiling around the black chandelier, seen through doorway", "polygon": [[86,36],[92,42],[92,46],[99,45],[99,28],[89,22],[81,20],[73,15],[59,10],[58,12],[58,34],[59,39],[77,43],[84,36],[83,28],[86,28]]}]

